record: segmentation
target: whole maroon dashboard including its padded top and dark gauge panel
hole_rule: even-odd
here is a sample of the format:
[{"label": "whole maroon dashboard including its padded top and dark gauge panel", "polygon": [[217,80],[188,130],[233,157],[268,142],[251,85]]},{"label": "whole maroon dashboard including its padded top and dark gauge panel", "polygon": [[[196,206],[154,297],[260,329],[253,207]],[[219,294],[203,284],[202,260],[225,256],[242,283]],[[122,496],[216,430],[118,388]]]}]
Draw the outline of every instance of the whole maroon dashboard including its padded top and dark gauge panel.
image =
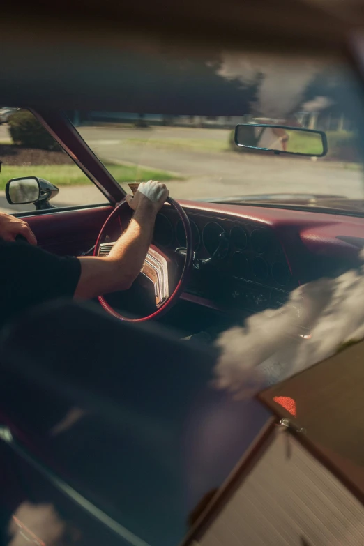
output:
[{"label": "whole maroon dashboard including its padded top and dark gauge panel", "polygon": [[[183,298],[225,311],[279,308],[289,292],[361,263],[364,219],[282,208],[182,202],[192,225],[195,257]],[[219,246],[219,258],[206,266]],[[156,221],[154,242],[183,248],[181,222],[169,206]]]}]

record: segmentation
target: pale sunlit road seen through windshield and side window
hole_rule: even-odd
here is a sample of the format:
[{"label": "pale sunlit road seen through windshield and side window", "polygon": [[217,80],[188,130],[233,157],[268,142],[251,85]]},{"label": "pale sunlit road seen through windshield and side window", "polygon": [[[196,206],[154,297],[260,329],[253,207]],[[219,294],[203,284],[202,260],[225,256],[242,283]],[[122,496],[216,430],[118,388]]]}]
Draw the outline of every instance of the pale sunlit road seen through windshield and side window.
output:
[{"label": "pale sunlit road seen through windshield and side window", "polygon": [[[2,135],[3,131],[4,128],[0,127],[0,140],[5,136]],[[291,192],[343,195],[354,199],[364,197],[363,176],[359,169],[290,156],[214,151],[225,146],[228,130],[85,127],[79,128],[79,132],[104,161],[131,162],[183,176],[184,180],[168,183],[172,197],[176,198],[204,199]],[[6,169],[6,166],[3,168]],[[98,190],[93,186],[62,187],[54,204],[61,206],[100,201],[103,201],[103,197],[99,197]],[[0,192],[1,207],[9,209],[3,192]]]}]

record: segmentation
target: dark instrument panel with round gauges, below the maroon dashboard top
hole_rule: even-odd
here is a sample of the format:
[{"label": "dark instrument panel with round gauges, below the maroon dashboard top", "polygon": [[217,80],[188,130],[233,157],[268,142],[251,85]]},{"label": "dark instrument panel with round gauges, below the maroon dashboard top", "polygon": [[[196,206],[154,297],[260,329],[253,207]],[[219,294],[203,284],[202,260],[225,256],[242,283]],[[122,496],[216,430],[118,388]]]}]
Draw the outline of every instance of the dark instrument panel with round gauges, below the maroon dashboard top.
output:
[{"label": "dark instrument panel with round gauges, below the maroon dashboard top", "polygon": [[[271,227],[197,211],[188,211],[188,217],[199,267],[192,268],[186,298],[195,296],[198,303],[210,303],[221,310],[257,312],[279,308],[298,286],[285,250]],[[220,248],[222,236],[226,243]],[[185,233],[172,208],[164,208],[158,215],[153,243],[183,252]]]}]

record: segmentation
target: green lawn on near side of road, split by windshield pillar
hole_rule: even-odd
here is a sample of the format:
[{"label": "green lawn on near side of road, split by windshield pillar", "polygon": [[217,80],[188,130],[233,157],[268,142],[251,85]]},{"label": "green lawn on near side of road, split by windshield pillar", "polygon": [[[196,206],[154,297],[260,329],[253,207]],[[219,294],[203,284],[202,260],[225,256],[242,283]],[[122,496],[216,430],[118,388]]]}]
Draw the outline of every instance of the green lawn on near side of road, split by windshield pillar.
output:
[{"label": "green lawn on near side of road, split by windshield pillar", "polygon": [[[127,165],[106,165],[114,179],[119,182],[148,181],[150,179],[168,181],[176,179],[172,173],[154,169]],[[38,176],[52,182],[54,185],[84,185],[91,181],[76,165],[3,165],[0,172],[0,190],[6,182],[21,176]]]}]

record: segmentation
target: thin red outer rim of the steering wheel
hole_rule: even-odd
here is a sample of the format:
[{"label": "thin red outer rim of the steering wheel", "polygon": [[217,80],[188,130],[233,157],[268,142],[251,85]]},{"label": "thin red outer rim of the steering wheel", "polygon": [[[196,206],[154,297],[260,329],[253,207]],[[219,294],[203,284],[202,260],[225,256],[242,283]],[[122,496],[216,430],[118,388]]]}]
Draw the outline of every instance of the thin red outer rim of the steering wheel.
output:
[{"label": "thin red outer rim of the steering wheel", "polygon": [[[160,308],[158,308],[152,314],[149,314],[146,317],[140,317],[139,319],[130,319],[128,317],[123,317],[122,314],[119,314],[117,311],[115,311],[112,308],[111,305],[109,305],[109,303],[107,303],[107,301],[105,300],[105,298],[103,296],[98,296],[98,301],[100,302],[102,307],[105,309],[105,311],[107,311],[109,314],[112,314],[112,316],[116,317],[116,319],[126,320],[128,322],[144,322],[144,321],[147,321],[147,320],[156,319],[158,317],[161,317],[162,314],[165,314],[165,312],[167,312],[170,308],[172,308],[174,303],[176,303],[179,296],[181,296],[181,294],[183,292],[183,289],[185,287],[185,282],[187,280],[188,271],[190,269],[190,266],[191,266],[191,263],[192,263],[192,257],[193,257],[191,225],[190,225],[190,220],[188,218],[188,215],[185,213],[185,211],[183,210],[183,208],[181,207],[181,205],[178,202],[176,202],[174,199],[172,199],[172,197],[168,197],[167,203],[169,203],[170,205],[172,205],[176,209],[176,212],[179,215],[179,218],[181,218],[183,229],[185,230],[186,253],[185,253],[185,263],[183,265],[181,278],[180,278],[179,282],[177,283],[176,288],[172,292],[171,296],[169,296],[167,301],[165,301],[165,303],[163,303],[160,306]],[[101,244],[101,241],[103,240],[105,230],[107,229],[109,223],[112,220],[114,220],[114,218],[116,218],[116,216],[119,215],[120,209],[123,206],[128,206],[125,199],[123,199],[123,201],[121,201],[121,203],[119,203],[119,205],[117,205],[114,208],[114,211],[112,211],[112,213],[108,216],[107,220],[105,221],[103,227],[100,230],[100,233],[98,234],[98,238],[97,238],[97,241],[96,241],[95,248],[93,249],[93,255],[94,256],[98,256],[98,252],[100,250],[100,244]]]}]

